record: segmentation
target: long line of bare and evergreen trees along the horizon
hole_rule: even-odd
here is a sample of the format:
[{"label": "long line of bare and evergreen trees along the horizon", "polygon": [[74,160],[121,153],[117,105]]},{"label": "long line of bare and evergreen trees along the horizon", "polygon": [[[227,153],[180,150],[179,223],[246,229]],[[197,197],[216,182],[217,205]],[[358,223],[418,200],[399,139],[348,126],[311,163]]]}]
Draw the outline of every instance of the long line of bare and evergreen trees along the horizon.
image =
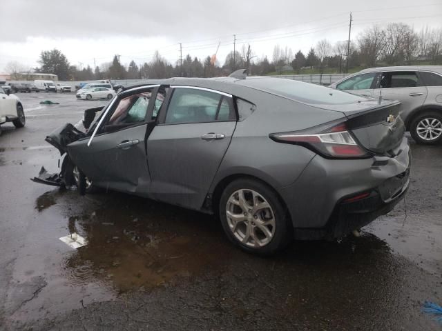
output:
[{"label": "long line of bare and evergreen trees along the horizon", "polygon": [[[405,23],[374,25],[350,43],[337,41],[332,45],[327,39],[320,40],[307,54],[301,50],[294,53],[289,46],[276,45],[270,59],[267,56],[258,58],[251,45],[242,45],[240,50],[229,52],[222,65],[213,57],[198,59],[191,54],[172,64],[155,51],[151,61],[142,64],[132,60],[125,66],[115,55],[113,61],[101,66],[78,68],[57,49],[41,52],[38,63],[39,67],[32,71],[57,74],[61,81],[218,77],[238,68],[247,68],[250,74],[265,75],[346,72],[347,68],[357,71],[383,65],[436,65],[442,64],[442,28],[416,31]],[[14,74],[23,71],[23,66],[12,62],[8,63],[6,70],[14,79]]]}]

